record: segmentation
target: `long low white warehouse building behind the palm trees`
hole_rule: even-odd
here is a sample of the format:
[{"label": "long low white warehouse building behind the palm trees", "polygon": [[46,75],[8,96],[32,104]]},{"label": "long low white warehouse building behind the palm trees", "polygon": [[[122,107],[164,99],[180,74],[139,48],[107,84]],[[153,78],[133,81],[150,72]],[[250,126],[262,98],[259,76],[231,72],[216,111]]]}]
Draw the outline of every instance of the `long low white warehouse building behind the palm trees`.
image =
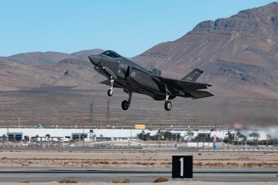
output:
[{"label": "long low white warehouse building behind the palm trees", "polygon": [[[91,133],[89,133],[90,129],[84,129],[84,140],[90,141]],[[145,134],[150,133],[150,135],[156,135],[157,130],[147,130],[144,129]],[[181,135],[182,138],[185,140],[190,139],[186,133],[188,130],[168,130],[173,134],[175,138],[178,134]],[[94,129],[94,133],[92,135],[96,135],[96,139],[100,138],[100,135],[103,135],[102,140],[129,140],[131,138],[138,138],[142,129]],[[213,137],[216,135],[217,138],[224,139],[227,137],[228,130],[217,130],[217,131],[210,131],[206,129],[199,129],[198,131],[192,130],[194,133],[193,137],[196,137],[198,134],[205,134],[206,137]],[[0,140],[2,140],[2,135],[8,135],[6,128],[0,128]],[[57,141],[57,138],[67,138],[70,137],[72,139],[81,140],[83,129],[23,129],[23,128],[10,128],[9,129],[9,138],[15,138],[16,140],[24,139],[24,136],[30,140],[31,137],[34,138],[38,135],[39,141],[46,140],[46,134],[50,135],[50,141]],[[232,137],[235,135],[235,131],[230,131]],[[92,137],[92,140],[94,138]]]}]

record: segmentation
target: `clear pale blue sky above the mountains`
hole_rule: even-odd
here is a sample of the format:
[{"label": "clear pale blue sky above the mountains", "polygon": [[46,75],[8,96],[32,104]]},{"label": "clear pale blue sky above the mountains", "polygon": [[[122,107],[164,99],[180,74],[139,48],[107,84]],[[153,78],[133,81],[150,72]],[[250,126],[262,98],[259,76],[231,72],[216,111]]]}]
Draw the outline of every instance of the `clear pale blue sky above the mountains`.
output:
[{"label": "clear pale blue sky above the mountains", "polygon": [[173,41],[205,20],[268,0],[0,1],[0,56],[100,48],[133,57]]}]

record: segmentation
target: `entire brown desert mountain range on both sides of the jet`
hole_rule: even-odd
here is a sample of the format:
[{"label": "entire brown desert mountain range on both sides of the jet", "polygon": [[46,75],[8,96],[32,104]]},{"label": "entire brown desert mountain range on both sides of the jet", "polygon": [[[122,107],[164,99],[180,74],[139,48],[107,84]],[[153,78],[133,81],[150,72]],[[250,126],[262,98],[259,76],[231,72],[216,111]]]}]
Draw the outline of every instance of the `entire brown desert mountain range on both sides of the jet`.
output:
[{"label": "entire brown desert mountain range on both sides of the jet", "polygon": [[[87,58],[102,51],[0,57],[0,89],[71,86],[106,90],[98,84],[105,78]],[[278,3],[202,21],[181,38],[160,43],[131,60],[178,79],[195,67],[202,69],[197,81],[213,85],[208,91],[216,96],[278,98]]]}]

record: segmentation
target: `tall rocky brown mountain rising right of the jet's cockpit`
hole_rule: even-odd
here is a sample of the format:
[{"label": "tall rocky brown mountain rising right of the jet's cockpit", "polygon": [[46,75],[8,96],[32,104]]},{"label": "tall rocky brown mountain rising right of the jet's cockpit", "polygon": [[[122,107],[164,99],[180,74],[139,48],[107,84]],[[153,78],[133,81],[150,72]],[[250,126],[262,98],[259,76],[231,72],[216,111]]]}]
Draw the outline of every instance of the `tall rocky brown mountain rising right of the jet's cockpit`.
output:
[{"label": "tall rocky brown mountain rising right of the jet's cockpit", "polygon": [[198,67],[218,96],[278,98],[278,3],[203,21],[132,59],[175,78]]}]

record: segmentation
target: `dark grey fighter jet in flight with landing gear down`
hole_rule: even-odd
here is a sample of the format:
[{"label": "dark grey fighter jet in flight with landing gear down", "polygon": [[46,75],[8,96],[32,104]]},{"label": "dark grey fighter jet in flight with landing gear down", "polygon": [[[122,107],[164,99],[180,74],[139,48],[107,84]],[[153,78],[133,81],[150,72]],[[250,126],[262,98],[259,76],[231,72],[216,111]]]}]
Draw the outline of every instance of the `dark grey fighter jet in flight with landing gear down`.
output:
[{"label": "dark grey fighter jet in flight with landing gear down", "polygon": [[110,85],[108,96],[113,95],[113,87],[122,88],[128,94],[128,100],[122,102],[123,110],[130,106],[133,92],[151,96],[154,100],[165,100],[164,108],[167,111],[172,108],[169,100],[176,96],[192,99],[213,96],[207,91],[199,91],[212,85],[195,82],[203,73],[197,68],[178,80],[161,77],[160,70],[153,68],[149,71],[111,50],[91,55],[89,60],[94,69],[108,79],[100,82]]}]

